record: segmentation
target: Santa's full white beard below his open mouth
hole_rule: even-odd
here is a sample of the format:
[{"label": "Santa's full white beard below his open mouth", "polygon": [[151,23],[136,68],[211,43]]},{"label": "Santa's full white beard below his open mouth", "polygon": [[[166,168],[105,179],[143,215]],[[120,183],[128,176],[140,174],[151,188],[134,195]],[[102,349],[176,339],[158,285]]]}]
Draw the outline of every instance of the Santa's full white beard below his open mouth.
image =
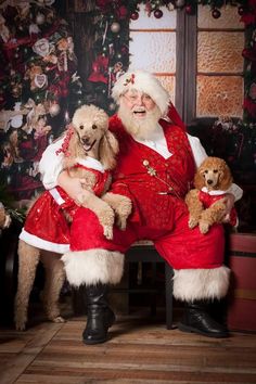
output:
[{"label": "Santa's full white beard below his open mouth", "polygon": [[162,116],[161,110],[155,105],[153,110],[146,112],[144,118],[137,119],[132,111],[128,110],[121,101],[117,115],[127,132],[138,140],[152,140],[158,130],[157,123]]}]

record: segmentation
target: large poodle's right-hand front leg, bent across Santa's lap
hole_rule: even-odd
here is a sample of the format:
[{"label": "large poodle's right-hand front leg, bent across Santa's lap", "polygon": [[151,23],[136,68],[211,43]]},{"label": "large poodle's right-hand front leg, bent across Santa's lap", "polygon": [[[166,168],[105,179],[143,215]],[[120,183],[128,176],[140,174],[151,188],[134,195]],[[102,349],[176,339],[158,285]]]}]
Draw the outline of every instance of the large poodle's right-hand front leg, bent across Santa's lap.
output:
[{"label": "large poodle's right-hand front leg, bent across Santa's lap", "polygon": [[121,194],[115,194],[107,192],[102,196],[102,200],[106,202],[115,212],[116,225],[123,231],[126,229],[127,219],[131,213],[132,204],[129,197]]}]

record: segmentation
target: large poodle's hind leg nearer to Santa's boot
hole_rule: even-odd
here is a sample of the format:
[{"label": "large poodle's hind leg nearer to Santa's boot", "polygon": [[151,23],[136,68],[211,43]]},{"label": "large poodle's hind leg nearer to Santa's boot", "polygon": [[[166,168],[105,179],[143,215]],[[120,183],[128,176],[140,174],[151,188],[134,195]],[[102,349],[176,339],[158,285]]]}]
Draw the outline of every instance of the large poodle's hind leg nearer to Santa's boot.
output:
[{"label": "large poodle's hind leg nearer to Santa's boot", "polygon": [[41,260],[46,270],[42,302],[49,320],[64,322],[60,310],[60,294],[65,281],[63,261],[59,254],[42,252]]}]

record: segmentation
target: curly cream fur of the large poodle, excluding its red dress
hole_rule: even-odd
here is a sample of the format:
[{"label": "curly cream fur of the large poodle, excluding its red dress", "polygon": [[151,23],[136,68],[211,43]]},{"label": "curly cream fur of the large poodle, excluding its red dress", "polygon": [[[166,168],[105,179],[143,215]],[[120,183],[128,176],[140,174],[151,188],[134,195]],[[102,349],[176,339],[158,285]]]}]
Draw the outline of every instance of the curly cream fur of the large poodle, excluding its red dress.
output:
[{"label": "curly cream fur of the large poodle, excluding its red dress", "polygon": [[[106,192],[111,178],[107,180],[105,191],[101,197],[93,193],[95,182],[94,174],[89,169],[75,167],[77,158],[88,156],[98,159],[104,169],[113,169],[118,153],[118,142],[108,131],[108,116],[94,105],[79,107],[72,120],[69,136],[64,140],[62,148],[63,168],[71,177],[85,180],[84,191],[78,196],[79,205],[90,208],[98,216],[107,239],[113,236],[113,226],[125,230],[126,220],[131,213],[131,202],[128,197]],[[27,322],[29,294],[34,284],[37,265],[41,259],[46,268],[46,284],[43,289],[43,303],[48,318],[54,322],[63,322],[60,316],[59,297],[65,280],[64,265],[61,255],[46,252],[27,244],[23,240],[18,243],[18,284],[15,297],[14,321],[17,330],[24,330]]]}]

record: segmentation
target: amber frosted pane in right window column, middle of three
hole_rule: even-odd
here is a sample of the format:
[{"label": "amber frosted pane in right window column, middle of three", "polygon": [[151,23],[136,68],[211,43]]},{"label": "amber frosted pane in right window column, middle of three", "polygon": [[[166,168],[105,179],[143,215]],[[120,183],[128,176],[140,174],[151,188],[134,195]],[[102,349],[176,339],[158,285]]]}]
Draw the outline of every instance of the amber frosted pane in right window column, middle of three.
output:
[{"label": "amber frosted pane in right window column, middle of three", "polygon": [[244,33],[199,33],[197,72],[243,72]]}]

